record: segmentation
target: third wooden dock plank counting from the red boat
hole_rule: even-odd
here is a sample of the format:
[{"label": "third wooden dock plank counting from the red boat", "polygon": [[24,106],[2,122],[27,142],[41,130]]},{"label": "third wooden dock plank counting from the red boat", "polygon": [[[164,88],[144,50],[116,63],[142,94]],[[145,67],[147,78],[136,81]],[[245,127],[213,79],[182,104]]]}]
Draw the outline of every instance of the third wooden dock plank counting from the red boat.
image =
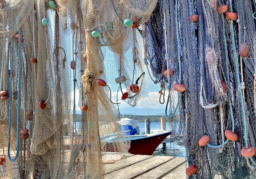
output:
[{"label": "third wooden dock plank counting from the red boat", "polygon": [[[140,175],[139,177],[136,177],[136,179],[161,179],[168,173],[174,171],[179,166],[184,164],[186,162],[185,157],[176,157],[175,159],[166,162],[165,164],[162,164],[161,166],[158,166],[157,168],[154,168],[153,170],[150,170],[143,175]],[[183,171],[180,171],[183,172]]]}]

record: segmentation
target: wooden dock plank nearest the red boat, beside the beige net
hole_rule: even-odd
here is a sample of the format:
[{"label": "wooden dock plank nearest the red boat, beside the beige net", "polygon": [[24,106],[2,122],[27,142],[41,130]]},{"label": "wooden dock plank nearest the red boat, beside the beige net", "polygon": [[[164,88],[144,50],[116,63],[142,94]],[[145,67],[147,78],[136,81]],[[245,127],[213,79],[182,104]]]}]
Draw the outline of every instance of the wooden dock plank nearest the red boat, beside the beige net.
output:
[{"label": "wooden dock plank nearest the red boat, beside the beige net", "polygon": [[121,160],[116,161],[114,164],[105,164],[106,174],[114,172],[115,170],[136,164],[140,161],[144,161],[154,157],[153,155],[128,155],[127,157],[122,158]]}]

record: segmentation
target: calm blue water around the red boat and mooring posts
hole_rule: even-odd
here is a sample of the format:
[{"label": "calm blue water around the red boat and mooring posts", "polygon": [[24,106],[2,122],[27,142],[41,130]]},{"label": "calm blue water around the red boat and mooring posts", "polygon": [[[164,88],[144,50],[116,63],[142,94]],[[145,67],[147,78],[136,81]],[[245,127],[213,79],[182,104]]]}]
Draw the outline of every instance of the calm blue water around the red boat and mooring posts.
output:
[{"label": "calm blue water around the red boat and mooring posts", "polygon": [[[166,130],[170,131],[166,123]],[[150,122],[150,130],[161,129],[160,122]],[[145,123],[139,122],[140,134],[145,134]],[[153,155],[166,155],[174,157],[186,157],[186,149],[183,146],[178,146],[176,142],[166,143],[166,146],[163,148],[163,144],[160,144]]]}]

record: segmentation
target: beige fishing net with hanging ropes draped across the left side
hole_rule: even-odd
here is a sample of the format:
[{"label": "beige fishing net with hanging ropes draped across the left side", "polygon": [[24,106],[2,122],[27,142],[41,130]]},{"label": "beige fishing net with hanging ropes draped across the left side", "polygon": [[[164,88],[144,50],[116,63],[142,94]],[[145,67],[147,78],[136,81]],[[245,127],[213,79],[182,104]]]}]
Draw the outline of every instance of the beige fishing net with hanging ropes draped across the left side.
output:
[{"label": "beige fishing net with hanging ropes draped across the left side", "polygon": [[[135,106],[150,90],[142,59],[156,3],[0,1],[0,178],[101,179],[122,165],[125,101],[112,92]],[[139,28],[124,27],[135,18]]]}]

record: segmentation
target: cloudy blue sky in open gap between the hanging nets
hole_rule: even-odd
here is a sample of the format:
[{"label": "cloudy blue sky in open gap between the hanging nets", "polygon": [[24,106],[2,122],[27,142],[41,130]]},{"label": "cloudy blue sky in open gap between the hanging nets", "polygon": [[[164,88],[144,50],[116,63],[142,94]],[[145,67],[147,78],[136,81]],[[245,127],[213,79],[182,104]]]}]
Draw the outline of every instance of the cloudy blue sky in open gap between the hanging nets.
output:
[{"label": "cloudy blue sky in open gap between the hanging nets", "polygon": [[[153,83],[153,82],[152,82]],[[141,99],[135,107],[130,106],[126,101],[121,100],[121,91],[118,93],[118,99],[121,104],[119,104],[119,112],[122,115],[164,115],[166,102],[164,104],[159,103],[159,84],[152,84],[151,91],[146,95],[144,99]],[[115,95],[117,92],[112,92],[112,101],[115,102]],[[115,94],[115,95],[114,95]],[[165,94],[168,94],[167,92]],[[78,95],[76,91],[76,96]],[[71,96],[74,96],[74,92],[72,92]],[[77,98],[76,98],[77,99]],[[167,99],[167,97],[165,97]],[[162,100],[162,99],[161,99]],[[166,101],[166,100],[165,100]],[[71,104],[71,109],[73,109],[73,102]],[[117,106],[117,105],[116,105]],[[78,102],[76,101],[76,110],[81,111]]]}]

